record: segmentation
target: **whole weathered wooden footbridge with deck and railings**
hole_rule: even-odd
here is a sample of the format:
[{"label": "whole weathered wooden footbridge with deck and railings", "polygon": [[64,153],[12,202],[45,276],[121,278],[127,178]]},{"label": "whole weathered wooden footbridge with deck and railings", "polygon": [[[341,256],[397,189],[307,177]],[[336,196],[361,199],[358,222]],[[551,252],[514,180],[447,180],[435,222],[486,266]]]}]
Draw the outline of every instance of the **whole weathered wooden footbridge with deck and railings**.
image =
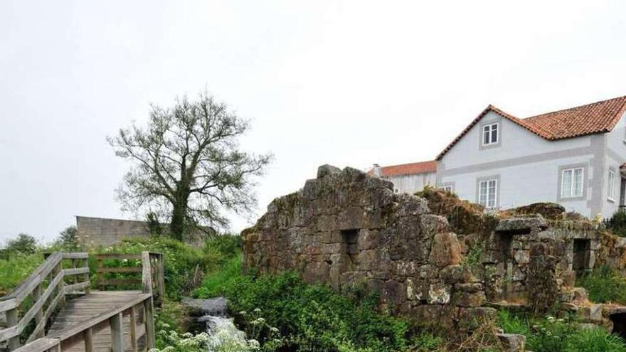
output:
[{"label": "whole weathered wooden footbridge with deck and railings", "polygon": [[[98,290],[91,289],[90,259],[97,263]],[[9,296],[0,297],[0,316],[6,316],[0,320],[0,351],[3,344],[14,352],[153,348],[154,305],[164,294],[163,264],[163,256],[154,252],[48,255]],[[139,274],[141,279],[132,277]],[[111,287],[116,290],[107,290]]]}]

